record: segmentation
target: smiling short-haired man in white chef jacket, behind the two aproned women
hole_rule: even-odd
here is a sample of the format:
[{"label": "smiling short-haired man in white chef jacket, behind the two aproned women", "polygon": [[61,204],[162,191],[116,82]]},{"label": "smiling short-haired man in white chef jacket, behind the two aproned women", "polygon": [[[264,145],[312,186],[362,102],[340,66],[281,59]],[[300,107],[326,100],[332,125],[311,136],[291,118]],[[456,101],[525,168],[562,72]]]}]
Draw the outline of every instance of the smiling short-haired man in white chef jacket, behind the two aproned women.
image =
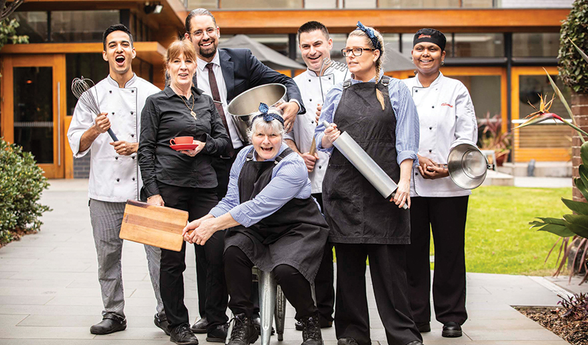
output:
[{"label": "smiling short-haired man in white chef jacket, behind the two aproned women", "polygon": [[[302,52],[302,59],[306,63],[306,71],[294,78],[302,94],[302,101],[306,105],[306,112],[299,114],[293,129],[285,136],[286,144],[304,159],[311,179],[313,197],[322,208],[322,179],[329,155],[316,151],[310,155],[311,144],[316,127],[317,106],[322,106],[327,92],[336,83],[344,81],[346,71],[335,68],[320,70],[324,59],[331,59],[333,39],[329,37],[329,30],[318,21],[308,21],[298,29],[298,43]],[[322,328],[333,325],[333,305],[335,304],[335,290],[333,288],[333,244],[327,243],[324,250],[322,264],[315,279],[315,293],[317,307],[320,314]],[[296,322],[295,327],[302,331],[302,324]]]}]

